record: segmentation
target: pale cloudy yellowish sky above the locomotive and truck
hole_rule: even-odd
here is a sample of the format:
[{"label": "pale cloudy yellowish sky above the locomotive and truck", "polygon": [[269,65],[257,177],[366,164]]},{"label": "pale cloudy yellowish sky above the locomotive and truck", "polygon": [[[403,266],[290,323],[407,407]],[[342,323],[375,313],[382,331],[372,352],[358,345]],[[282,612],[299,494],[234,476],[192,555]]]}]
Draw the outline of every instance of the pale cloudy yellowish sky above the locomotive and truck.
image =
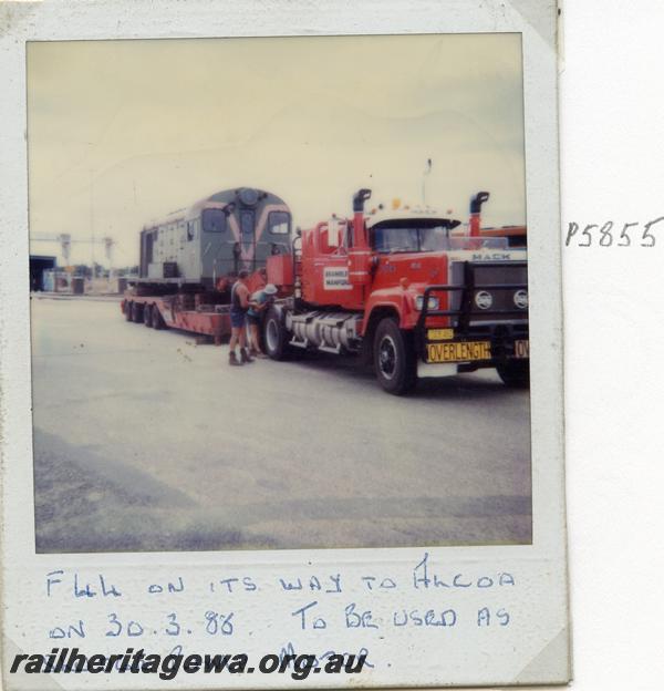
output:
[{"label": "pale cloudy yellowish sky above the locomotive and truck", "polygon": [[[423,202],[484,225],[526,220],[519,34],[32,42],[31,251],[69,233],[72,264],[112,237],[138,260],[145,223],[221,189],[268,189],[294,225]],[[92,249],[94,247],[94,249]]]}]

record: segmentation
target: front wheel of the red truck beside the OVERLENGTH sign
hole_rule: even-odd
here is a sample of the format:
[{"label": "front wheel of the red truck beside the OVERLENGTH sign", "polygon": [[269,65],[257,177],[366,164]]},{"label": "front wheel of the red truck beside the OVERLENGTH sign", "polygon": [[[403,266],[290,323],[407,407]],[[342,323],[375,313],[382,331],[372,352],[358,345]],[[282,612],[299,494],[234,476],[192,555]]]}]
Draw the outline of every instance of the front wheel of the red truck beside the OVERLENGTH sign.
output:
[{"label": "front wheel of the red truck beside the OVERLENGTH sign", "polygon": [[415,386],[417,372],[413,343],[395,319],[383,319],[378,323],[373,353],[376,378],[385,391],[403,395]]}]

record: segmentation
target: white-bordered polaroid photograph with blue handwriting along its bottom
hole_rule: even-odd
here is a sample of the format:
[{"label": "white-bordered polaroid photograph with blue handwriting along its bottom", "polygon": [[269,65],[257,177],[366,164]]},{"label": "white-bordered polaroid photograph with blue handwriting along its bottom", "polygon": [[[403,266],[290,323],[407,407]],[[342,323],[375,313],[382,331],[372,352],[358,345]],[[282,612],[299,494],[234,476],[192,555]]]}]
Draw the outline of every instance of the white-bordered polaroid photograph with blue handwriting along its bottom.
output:
[{"label": "white-bordered polaroid photograph with blue handwriting along its bottom", "polygon": [[3,9],[4,684],[567,683],[556,4],[273,7]]}]

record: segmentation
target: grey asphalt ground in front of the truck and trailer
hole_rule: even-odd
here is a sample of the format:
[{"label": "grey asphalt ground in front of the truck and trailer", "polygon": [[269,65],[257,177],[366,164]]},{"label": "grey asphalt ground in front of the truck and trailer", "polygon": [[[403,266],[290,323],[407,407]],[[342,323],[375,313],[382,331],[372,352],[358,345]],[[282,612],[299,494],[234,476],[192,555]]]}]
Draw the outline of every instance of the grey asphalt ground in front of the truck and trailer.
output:
[{"label": "grey asphalt ground in front of the truck and trailer", "polygon": [[34,296],[32,343],[40,553],[530,543],[529,395],[494,371],[230,368],[108,299]]}]

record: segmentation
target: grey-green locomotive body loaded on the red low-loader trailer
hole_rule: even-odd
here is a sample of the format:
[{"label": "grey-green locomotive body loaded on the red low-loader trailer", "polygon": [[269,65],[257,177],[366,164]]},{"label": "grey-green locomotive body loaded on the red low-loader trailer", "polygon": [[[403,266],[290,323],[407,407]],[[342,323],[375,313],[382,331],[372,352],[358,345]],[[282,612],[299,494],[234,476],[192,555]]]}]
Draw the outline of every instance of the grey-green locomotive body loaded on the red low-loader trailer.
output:
[{"label": "grey-green locomotive body loaded on the red low-loader trailer", "polygon": [[252,187],[227,189],[144,226],[137,282],[210,290],[290,251],[291,213],[283,199]]}]

